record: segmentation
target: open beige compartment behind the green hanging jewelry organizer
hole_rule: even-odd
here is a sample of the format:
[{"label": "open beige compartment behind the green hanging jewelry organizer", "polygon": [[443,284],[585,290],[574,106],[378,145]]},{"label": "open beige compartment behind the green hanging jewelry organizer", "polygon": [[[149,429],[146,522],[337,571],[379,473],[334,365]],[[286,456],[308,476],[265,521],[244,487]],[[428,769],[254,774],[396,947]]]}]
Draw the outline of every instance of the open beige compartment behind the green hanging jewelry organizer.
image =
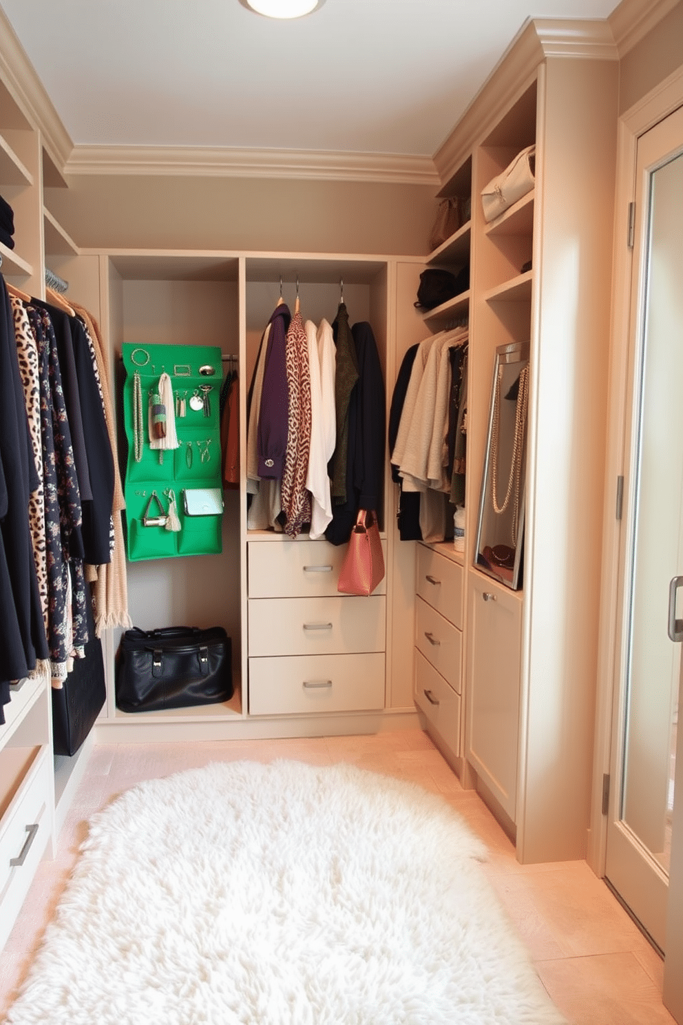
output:
[{"label": "open beige compartment behind the green hanging jewelry organizer", "polygon": [[[109,337],[115,370],[120,464],[125,466],[127,441],[122,426],[121,392],[123,342],[145,345],[215,345],[225,357],[240,357],[240,268],[237,254],[221,251],[111,252],[109,279]],[[223,362],[226,367],[226,362]],[[173,368],[159,367],[159,373]],[[243,366],[240,375],[244,382]],[[181,378],[172,376],[174,391]],[[218,391],[215,401],[218,402]],[[182,420],[176,420],[182,440]],[[176,495],[179,499],[179,496]],[[163,712],[121,711],[115,700],[115,653],[121,629],[110,631],[105,645],[108,702],[98,725],[135,728],[165,725],[169,739],[187,736],[187,727],[219,726],[241,719],[241,580],[239,492],[225,489],[222,550],[205,556],[150,559],[127,564],[129,613],[141,629],[177,626],[222,626],[231,640],[233,695],[227,702],[168,709]],[[190,731],[191,732],[191,731]],[[198,736],[206,736],[200,733]],[[119,731],[117,731],[117,737]],[[173,738],[174,739],[174,738]]]}]

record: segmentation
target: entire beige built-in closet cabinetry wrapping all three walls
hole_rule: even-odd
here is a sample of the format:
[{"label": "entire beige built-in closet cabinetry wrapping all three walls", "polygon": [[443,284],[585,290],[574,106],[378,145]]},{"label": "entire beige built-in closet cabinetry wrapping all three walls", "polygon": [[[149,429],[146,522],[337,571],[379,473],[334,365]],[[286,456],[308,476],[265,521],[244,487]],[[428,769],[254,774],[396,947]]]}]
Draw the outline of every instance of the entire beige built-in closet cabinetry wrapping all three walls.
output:
[{"label": "entire beige built-in closet cabinetry wrapping all three walls", "polygon": [[[427,261],[460,268],[469,260],[471,282],[426,318],[414,309],[425,265],[415,256],[79,249],[44,207],[46,186],[67,186],[49,133],[11,85],[1,86],[0,187],[16,224],[16,249],[0,248],[2,273],[39,296],[46,264],[70,281],[70,294],[105,330],[117,388],[124,341],[209,343],[237,355],[243,465],[246,391],[281,283],[292,304],[298,281],[303,316],[318,321],[334,317],[343,281],[351,321],[369,320],[375,331],[387,404],[407,348],[469,317],[465,552],[398,540],[387,474],[380,510],[386,580],[371,599],[340,596],[340,549],[247,530],[243,479],[225,492],[221,556],[128,566],[137,625],[225,626],[234,697],[163,715],[119,711],[118,632],[109,631],[108,700],[96,736],[369,732],[415,724],[419,714],[463,782],[478,787],[516,836],[521,860],[584,857],[599,565],[598,518],[584,510],[600,507],[602,496],[616,123],[617,63],[603,25],[531,23],[435,155],[442,193],[470,195],[472,216]],[[535,192],[485,225],[481,188],[530,142]],[[520,273],[530,258],[532,270]],[[525,340],[525,559],[523,587],[513,592],[475,569],[473,552],[494,354]],[[8,781],[0,846],[19,812],[24,827],[43,823],[27,865],[44,851],[78,778],[75,763],[51,758],[49,722],[48,683],[31,682],[12,698],[0,731]],[[0,885],[2,894],[14,886]],[[13,893],[18,907],[19,885]]]}]

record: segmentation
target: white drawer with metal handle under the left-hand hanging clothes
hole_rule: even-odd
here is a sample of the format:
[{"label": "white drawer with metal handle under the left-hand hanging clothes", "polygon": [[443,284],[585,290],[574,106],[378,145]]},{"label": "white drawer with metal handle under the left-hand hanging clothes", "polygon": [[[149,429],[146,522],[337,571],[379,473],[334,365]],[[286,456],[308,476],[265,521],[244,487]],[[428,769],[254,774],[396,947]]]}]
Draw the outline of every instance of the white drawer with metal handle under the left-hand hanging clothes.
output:
[{"label": "white drawer with metal handle under the left-hand hanging clothes", "polygon": [[0,820],[0,948],[11,932],[52,829],[49,749],[18,748],[17,756],[19,751],[25,774]]}]

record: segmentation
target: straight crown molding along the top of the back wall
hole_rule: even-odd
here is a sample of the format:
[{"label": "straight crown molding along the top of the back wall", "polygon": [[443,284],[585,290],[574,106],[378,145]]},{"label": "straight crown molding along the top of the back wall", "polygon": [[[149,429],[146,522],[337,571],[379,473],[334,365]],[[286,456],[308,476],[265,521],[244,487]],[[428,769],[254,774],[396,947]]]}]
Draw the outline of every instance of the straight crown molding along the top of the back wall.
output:
[{"label": "straight crown molding along the top of the back wall", "polygon": [[431,157],[222,147],[76,146],[68,174],[177,174],[439,184]]}]

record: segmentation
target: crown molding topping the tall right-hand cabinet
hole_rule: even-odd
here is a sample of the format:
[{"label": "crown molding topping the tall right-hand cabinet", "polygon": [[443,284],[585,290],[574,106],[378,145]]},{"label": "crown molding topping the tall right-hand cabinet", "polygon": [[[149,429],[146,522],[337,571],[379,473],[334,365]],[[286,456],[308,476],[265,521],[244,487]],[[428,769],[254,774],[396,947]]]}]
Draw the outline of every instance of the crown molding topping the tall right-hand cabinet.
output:
[{"label": "crown molding topping the tall right-hand cabinet", "polygon": [[462,166],[477,140],[530,84],[547,57],[617,60],[618,53],[611,28],[604,19],[527,18],[434,154],[441,188]]}]

